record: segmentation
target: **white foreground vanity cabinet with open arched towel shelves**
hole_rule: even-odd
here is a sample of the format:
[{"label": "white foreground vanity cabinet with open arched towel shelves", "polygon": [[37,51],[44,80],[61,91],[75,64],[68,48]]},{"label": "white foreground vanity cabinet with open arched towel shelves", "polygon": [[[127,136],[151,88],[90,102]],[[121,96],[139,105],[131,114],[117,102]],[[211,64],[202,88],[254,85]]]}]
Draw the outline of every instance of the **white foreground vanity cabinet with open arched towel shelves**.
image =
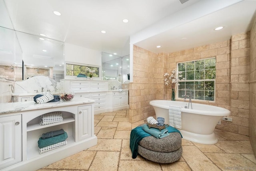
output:
[{"label": "white foreground vanity cabinet with open arched towel shelves", "polygon": [[[44,104],[34,101],[0,103],[0,157],[4,156],[0,158],[0,170],[35,171],[96,145],[94,102],[74,97],[71,101]],[[41,115],[59,111],[63,121],[39,124]],[[40,154],[38,139],[42,133],[59,129],[68,134],[66,145]]]}]

